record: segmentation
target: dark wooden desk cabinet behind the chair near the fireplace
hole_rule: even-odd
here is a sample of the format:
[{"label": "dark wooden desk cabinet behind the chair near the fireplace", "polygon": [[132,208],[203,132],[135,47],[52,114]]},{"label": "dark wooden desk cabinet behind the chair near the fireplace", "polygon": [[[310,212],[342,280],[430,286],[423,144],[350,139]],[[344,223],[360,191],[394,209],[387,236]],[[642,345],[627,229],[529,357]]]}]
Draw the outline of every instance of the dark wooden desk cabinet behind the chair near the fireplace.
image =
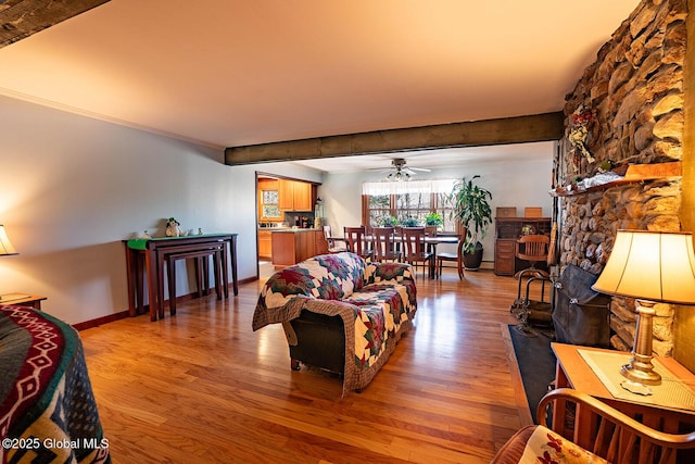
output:
[{"label": "dark wooden desk cabinet behind the chair near the fireplace", "polygon": [[525,231],[551,235],[549,217],[495,218],[495,274],[511,276],[530,264],[516,258],[516,242]]}]

